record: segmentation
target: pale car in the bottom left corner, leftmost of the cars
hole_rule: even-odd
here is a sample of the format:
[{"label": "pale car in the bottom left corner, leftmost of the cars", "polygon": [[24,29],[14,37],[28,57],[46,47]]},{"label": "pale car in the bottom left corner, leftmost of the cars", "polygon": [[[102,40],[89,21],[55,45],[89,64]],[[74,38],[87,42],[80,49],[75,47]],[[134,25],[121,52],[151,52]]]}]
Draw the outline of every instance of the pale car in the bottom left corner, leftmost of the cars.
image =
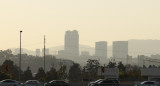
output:
[{"label": "pale car in the bottom left corner, leftmost of the cars", "polygon": [[0,81],[0,86],[21,86],[22,84],[18,81],[6,79]]}]

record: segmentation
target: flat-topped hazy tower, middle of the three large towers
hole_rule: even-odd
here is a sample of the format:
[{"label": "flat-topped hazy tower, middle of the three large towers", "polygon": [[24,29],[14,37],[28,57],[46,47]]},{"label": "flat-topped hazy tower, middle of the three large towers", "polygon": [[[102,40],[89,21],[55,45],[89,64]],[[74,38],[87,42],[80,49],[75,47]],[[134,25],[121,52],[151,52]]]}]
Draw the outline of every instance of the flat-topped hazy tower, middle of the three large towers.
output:
[{"label": "flat-topped hazy tower, middle of the three large towers", "polygon": [[107,58],[107,42],[106,41],[96,42],[95,56],[100,58]]}]

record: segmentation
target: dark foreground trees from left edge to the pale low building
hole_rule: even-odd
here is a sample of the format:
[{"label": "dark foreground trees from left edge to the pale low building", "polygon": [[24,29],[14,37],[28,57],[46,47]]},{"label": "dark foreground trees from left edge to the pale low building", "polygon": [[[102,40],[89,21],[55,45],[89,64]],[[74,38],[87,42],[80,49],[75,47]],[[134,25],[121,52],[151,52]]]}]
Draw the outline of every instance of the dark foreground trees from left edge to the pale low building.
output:
[{"label": "dark foreground trees from left edge to the pale low building", "polygon": [[[9,68],[6,68],[8,66]],[[36,74],[32,74],[30,67],[27,67],[25,71],[21,71],[21,80],[36,79],[39,81],[51,81],[51,80],[64,80],[68,79],[72,82],[92,80],[97,78],[97,68],[99,66],[98,60],[88,60],[87,65],[83,68],[78,63],[73,63],[67,73],[65,65],[56,70],[55,66],[52,65],[49,71],[45,72],[42,67],[38,69]],[[14,64],[11,60],[5,60],[0,66],[0,80],[3,79],[19,79],[19,67]]]}]

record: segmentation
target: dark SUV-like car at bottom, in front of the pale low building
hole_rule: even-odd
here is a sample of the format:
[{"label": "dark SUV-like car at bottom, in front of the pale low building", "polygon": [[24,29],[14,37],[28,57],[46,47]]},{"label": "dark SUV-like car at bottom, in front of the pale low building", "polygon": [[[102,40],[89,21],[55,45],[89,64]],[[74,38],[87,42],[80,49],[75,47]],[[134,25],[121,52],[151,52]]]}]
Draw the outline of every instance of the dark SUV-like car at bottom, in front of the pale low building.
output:
[{"label": "dark SUV-like car at bottom, in front of the pale low building", "polygon": [[98,83],[94,83],[91,86],[115,86],[116,83],[113,80],[102,80]]}]

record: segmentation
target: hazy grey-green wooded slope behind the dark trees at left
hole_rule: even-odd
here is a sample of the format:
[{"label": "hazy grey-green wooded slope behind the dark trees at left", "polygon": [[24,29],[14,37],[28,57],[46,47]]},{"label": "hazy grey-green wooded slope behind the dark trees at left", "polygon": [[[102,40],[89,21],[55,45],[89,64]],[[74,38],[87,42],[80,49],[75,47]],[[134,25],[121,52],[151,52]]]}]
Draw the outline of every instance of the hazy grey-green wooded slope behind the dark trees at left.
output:
[{"label": "hazy grey-green wooded slope behind the dark trees at left", "polygon": [[[0,50],[0,65],[3,64],[5,60],[12,60],[15,65],[19,65],[19,54],[13,55],[11,50]],[[44,58],[39,56],[32,56],[27,54],[22,54],[21,57],[21,69],[24,71],[29,66],[32,70],[32,73],[37,73],[40,67],[44,66]],[[52,65],[54,64],[54,68],[58,70],[61,64],[67,67],[67,71],[69,67],[73,64],[73,61],[68,59],[58,59],[53,55],[46,55],[46,71],[49,71]]]}]

